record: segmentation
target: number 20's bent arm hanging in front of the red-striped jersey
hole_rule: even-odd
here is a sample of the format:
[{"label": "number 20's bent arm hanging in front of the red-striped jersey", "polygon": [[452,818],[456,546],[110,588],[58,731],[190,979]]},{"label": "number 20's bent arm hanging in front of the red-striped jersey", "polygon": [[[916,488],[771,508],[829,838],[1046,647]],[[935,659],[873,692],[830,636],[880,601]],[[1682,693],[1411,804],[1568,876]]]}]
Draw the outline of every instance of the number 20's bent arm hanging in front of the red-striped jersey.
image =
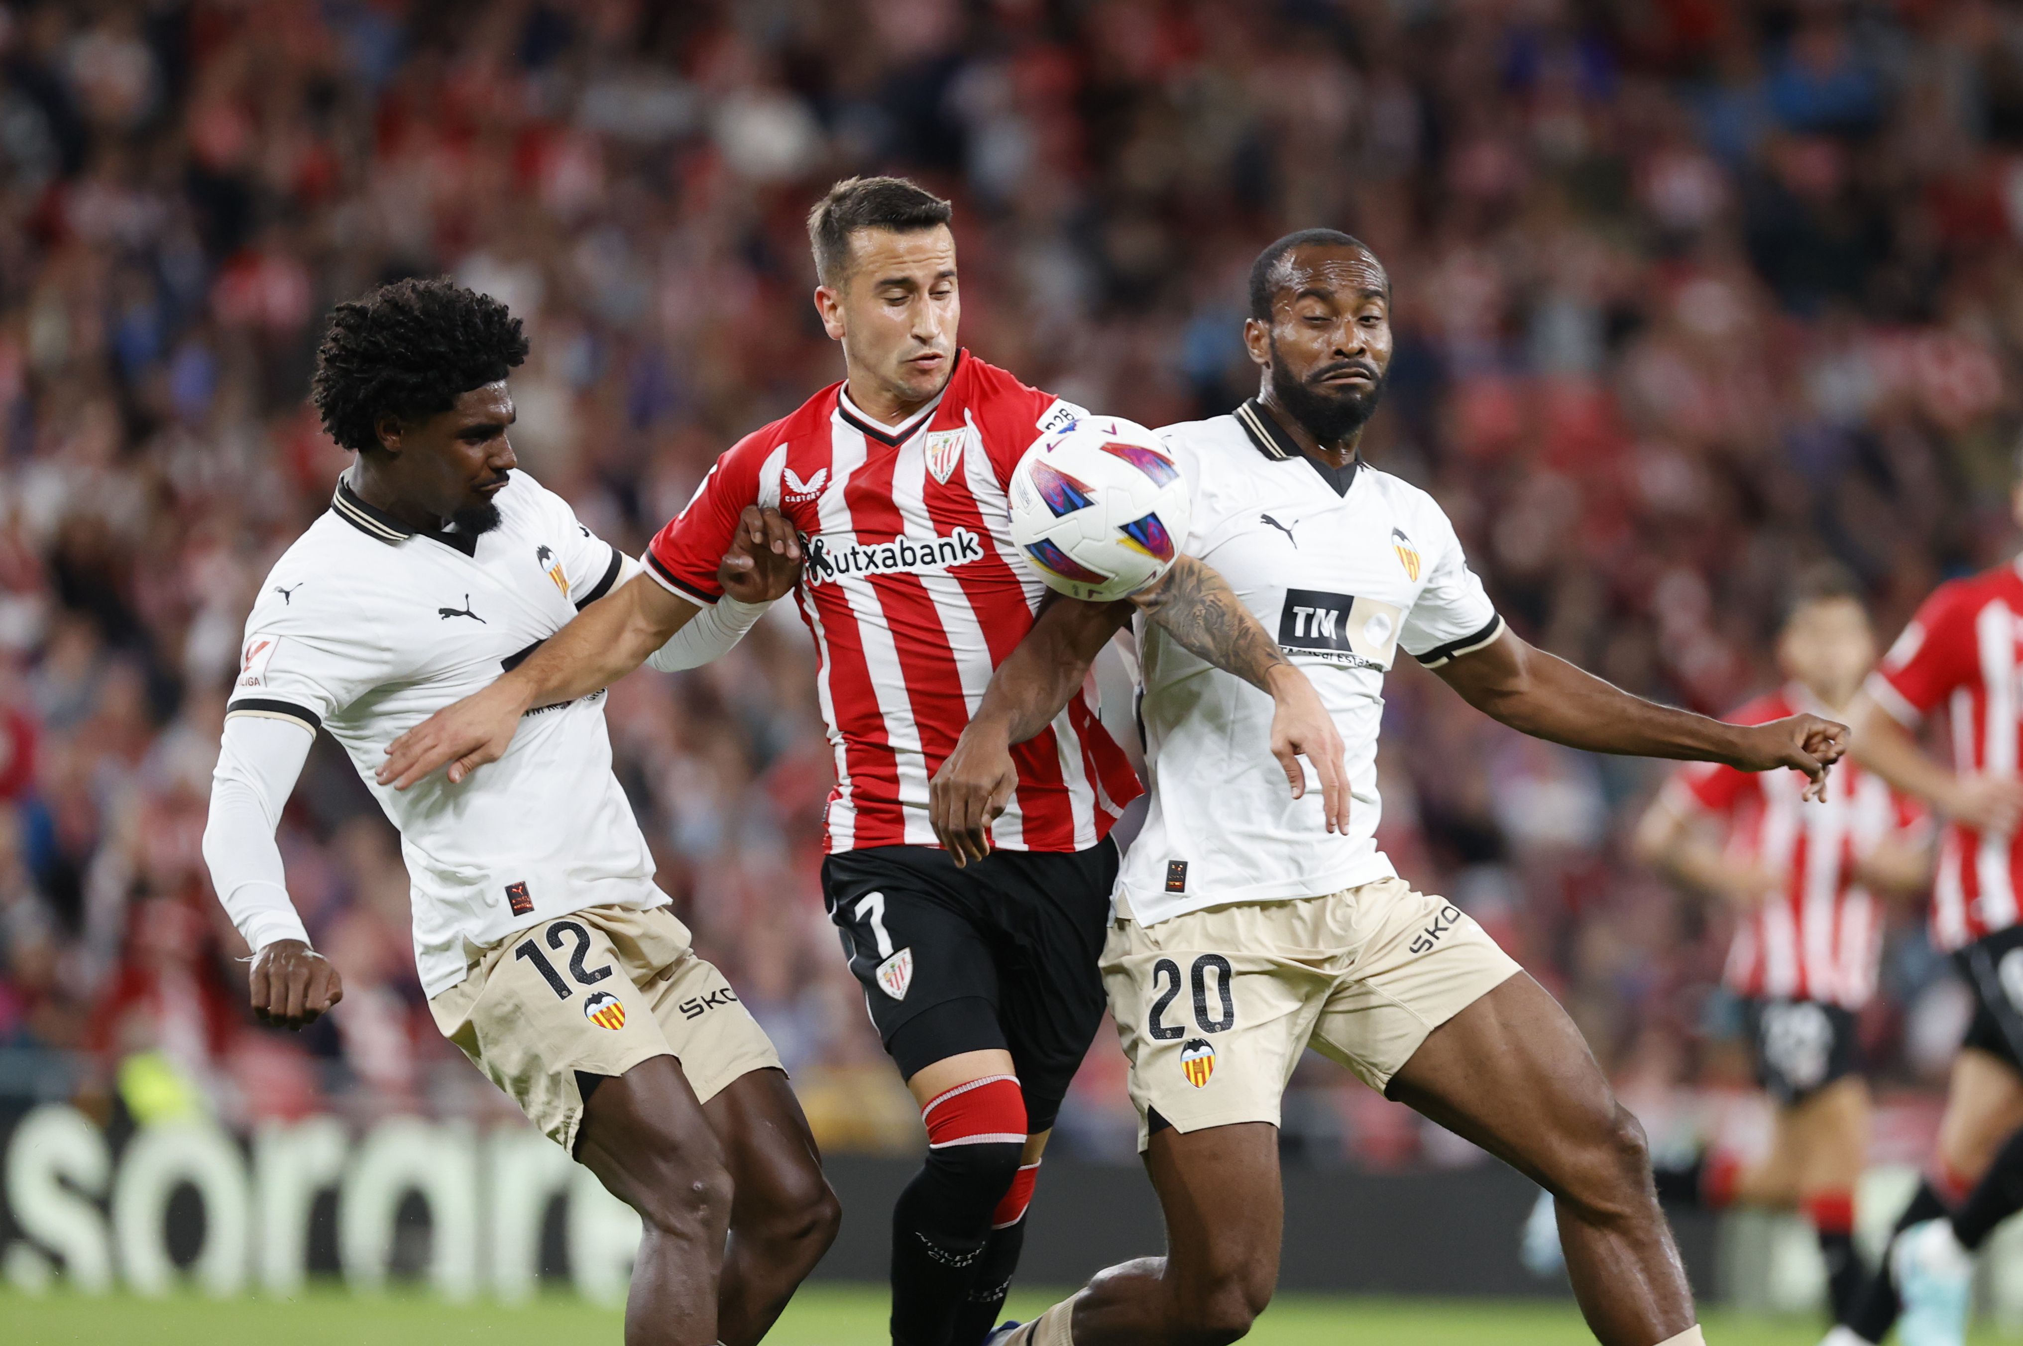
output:
[{"label": "number 20's bent arm hanging in front of the red-striped jersey", "polygon": [[1131,603],[1048,595],[1032,629],[983,688],[977,712],[927,787],[927,814],[957,866],[991,850],[991,824],[1018,787],[1012,745],[1054,723],[1103,646],[1131,619]]}]

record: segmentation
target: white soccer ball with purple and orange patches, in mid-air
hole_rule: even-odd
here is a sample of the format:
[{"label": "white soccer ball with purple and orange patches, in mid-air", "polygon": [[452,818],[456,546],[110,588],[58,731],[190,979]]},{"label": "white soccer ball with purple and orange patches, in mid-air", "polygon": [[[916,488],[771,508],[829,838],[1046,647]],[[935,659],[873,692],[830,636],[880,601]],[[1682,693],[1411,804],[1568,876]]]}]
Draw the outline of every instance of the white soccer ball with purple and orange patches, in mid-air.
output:
[{"label": "white soccer ball with purple and orange patches, in mid-air", "polygon": [[1192,504],[1155,433],[1084,417],[1040,437],[1012,472],[1012,540],[1050,587],[1109,603],[1171,569]]}]

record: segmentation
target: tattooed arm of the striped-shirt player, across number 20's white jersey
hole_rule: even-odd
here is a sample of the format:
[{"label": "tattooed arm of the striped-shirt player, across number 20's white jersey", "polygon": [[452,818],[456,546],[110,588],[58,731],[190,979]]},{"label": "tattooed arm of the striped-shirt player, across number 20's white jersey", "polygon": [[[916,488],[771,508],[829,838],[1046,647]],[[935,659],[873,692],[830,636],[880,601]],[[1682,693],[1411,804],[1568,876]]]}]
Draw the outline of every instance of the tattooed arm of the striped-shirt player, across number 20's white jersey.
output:
[{"label": "tattooed arm of the striped-shirt player, across number 20's white jersey", "polygon": [[1270,692],[1270,755],[1285,767],[1293,797],[1307,793],[1307,771],[1299,765],[1305,757],[1321,779],[1327,830],[1347,832],[1349,773],[1335,717],[1222,575],[1194,557],[1181,557],[1131,601],[1196,658]]}]

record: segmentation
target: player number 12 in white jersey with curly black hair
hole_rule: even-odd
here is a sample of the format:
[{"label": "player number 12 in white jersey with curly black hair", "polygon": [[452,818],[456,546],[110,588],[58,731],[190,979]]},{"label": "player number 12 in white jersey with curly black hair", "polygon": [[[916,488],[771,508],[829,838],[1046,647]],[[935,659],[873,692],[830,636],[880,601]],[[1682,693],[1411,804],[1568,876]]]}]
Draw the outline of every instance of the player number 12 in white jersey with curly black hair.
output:
[{"label": "player number 12 in white jersey with curly black hair", "polygon": [[[342,980],[273,838],[330,733],[401,830],[437,1026],[639,1212],[627,1346],[753,1346],[840,1210],[773,1044],[653,885],[603,684],[542,702],[463,789],[374,779],[386,745],[637,571],[518,470],[506,378],[526,350],[518,318],[449,281],[332,314],[314,399],[356,461],[247,617],[204,858],[253,949],[255,1012],[301,1026],[330,1010]],[[726,551],[722,583],[746,599],[793,579],[744,534]],[[680,1012],[698,996],[708,1014]]]}]

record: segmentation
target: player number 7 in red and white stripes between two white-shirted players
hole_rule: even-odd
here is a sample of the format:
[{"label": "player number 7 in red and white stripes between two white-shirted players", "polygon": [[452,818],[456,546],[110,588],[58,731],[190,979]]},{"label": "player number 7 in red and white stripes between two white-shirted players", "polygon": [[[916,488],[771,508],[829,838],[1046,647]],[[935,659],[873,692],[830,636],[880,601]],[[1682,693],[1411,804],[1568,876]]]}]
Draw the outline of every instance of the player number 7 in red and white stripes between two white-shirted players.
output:
[{"label": "player number 7 in red and white stripes between two white-shirted players", "polygon": [[[394,743],[380,771],[405,787],[449,763],[463,779],[526,710],[605,686],[670,638],[655,664],[728,650],[761,611],[716,577],[740,514],[744,526],[753,506],[793,522],[805,549],[795,597],[835,749],[823,897],[929,1138],[892,1218],[898,1346],[975,1346],[995,1322],[1040,1152],[1103,1018],[1096,959],[1117,878],[1107,838],[1139,793],[1084,686],[1016,749],[1016,789],[983,860],[957,868],[929,822],[929,777],[1044,593],[1012,542],[1012,468],[1082,415],[955,344],[949,217],[949,202],[900,178],[838,182],[809,237],[815,308],[848,378],[738,441],[653,538],[645,575]],[[1307,755],[1329,826],[1345,828],[1341,737],[1228,585],[1181,557],[1133,601],[1179,646],[1272,694],[1291,793],[1305,789]]]}]

